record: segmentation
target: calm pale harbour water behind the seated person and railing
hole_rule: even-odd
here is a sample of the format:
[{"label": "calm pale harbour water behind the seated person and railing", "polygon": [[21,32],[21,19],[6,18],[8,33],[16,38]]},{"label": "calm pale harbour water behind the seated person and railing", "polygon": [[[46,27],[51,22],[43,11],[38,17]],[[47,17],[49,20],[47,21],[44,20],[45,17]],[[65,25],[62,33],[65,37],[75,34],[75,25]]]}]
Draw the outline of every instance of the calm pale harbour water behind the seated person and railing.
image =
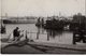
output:
[{"label": "calm pale harbour water behind the seated person and railing", "polygon": [[8,34],[12,33],[13,29],[17,26],[20,30],[27,30],[28,38],[33,39],[35,42],[72,44],[72,32],[45,30],[43,28],[35,27],[34,24],[6,25]]}]

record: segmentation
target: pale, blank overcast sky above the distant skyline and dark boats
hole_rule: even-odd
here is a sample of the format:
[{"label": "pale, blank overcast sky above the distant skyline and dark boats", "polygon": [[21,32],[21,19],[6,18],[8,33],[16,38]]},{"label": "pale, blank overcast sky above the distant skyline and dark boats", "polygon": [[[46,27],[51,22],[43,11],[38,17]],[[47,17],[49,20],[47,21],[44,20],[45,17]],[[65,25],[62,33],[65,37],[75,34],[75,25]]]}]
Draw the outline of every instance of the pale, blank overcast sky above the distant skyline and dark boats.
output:
[{"label": "pale, blank overcast sky above the distant skyline and dark boats", "polygon": [[8,16],[70,16],[85,14],[85,0],[2,0],[2,15]]}]

